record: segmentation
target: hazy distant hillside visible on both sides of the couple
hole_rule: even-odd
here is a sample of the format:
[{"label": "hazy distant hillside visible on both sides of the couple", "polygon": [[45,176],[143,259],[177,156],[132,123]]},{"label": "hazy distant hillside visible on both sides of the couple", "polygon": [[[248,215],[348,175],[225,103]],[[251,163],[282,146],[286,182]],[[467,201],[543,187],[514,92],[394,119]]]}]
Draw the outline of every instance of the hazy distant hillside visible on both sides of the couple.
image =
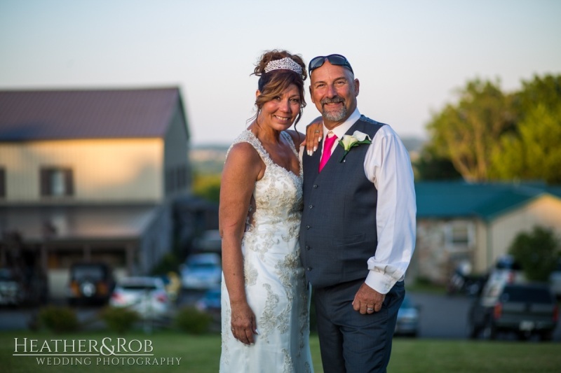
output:
[{"label": "hazy distant hillside visible on both sides of the couple", "polygon": [[[419,137],[402,137],[403,145],[410,153],[412,160],[417,158],[424,139]],[[199,144],[191,146],[189,158],[194,169],[200,174],[220,174],[226,159],[229,145],[223,144]]]}]

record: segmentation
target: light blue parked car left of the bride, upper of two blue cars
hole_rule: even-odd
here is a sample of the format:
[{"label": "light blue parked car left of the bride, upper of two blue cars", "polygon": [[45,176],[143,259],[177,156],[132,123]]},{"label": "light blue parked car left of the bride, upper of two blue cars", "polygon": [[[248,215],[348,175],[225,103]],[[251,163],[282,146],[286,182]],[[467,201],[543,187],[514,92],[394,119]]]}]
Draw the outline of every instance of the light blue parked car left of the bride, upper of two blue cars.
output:
[{"label": "light blue parked car left of the bride, upper of two blue cars", "polygon": [[210,289],[222,281],[222,264],[217,253],[198,253],[187,258],[181,268],[183,288]]}]

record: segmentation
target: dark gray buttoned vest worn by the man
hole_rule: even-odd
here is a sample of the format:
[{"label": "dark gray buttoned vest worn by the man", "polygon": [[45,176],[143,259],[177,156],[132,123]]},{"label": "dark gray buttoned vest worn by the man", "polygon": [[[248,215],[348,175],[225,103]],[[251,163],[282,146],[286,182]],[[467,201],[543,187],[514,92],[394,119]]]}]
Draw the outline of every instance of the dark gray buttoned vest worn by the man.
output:
[{"label": "dark gray buttoned vest worn by the man", "polygon": [[[351,126],[374,134],[383,126],[364,115]],[[304,211],[300,225],[300,257],[306,279],[314,288],[365,279],[367,260],[377,247],[376,205],[378,192],[364,173],[367,144],[344,149],[337,145],[330,160],[318,172],[321,152],[304,152]]]}]

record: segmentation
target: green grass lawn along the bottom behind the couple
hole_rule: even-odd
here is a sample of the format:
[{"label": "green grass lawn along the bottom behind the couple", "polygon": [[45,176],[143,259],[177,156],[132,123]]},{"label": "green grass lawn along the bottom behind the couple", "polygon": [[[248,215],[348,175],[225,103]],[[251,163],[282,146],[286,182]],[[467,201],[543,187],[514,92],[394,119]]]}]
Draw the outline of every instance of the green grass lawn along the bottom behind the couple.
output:
[{"label": "green grass lawn along the bottom behind the couple", "polygon": [[[140,342],[149,340],[151,353],[154,356],[119,357],[91,356],[89,365],[86,357],[79,357],[76,353],[66,356],[75,360],[82,359],[81,365],[55,365],[50,357],[50,365],[39,365],[37,357],[13,356],[15,351],[15,338],[18,338],[18,353],[23,353],[25,347],[23,338],[27,337],[29,353],[30,339],[35,339],[34,351],[38,351],[48,341],[50,348],[54,349],[52,339],[74,340],[75,349],[79,349],[78,340],[90,339],[97,341],[97,347],[102,344],[102,339],[111,338],[109,344],[115,345],[117,338],[126,339],[125,347],[131,343],[131,349],[137,351]],[[133,341],[139,342],[133,342]],[[121,339],[121,342],[123,339]],[[58,342],[59,352],[62,343]],[[109,345],[106,343],[106,345]],[[86,347],[87,349],[87,347]],[[149,349],[148,349],[149,350]],[[320,363],[319,344],[317,336],[311,339],[312,358],[316,373],[323,372]],[[43,352],[48,352],[43,349]],[[140,351],[142,352],[142,351]],[[220,337],[212,335],[186,335],[175,331],[158,331],[153,334],[143,332],[130,332],[126,335],[114,335],[110,332],[76,332],[68,335],[53,335],[48,332],[2,332],[0,334],[0,370],[4,373],[29,373],[29,372],[188,372],[188,373],[215,373],[218,371],[220,356]],[[60,359],[64,357],[59,357]],[[100,358],[100,360],[97,360]],[[127,363],[127,359],[130,363]],[[159,365],[140,365],[137,361],[160,363]],[[181,359],[179,365],[177,359]],[[108,363],[104,359],[111,359]],[[123,360],[125,363],[123,363]],[[140,360],[139,360],[140,359]],[[163,359],[163,360],[162,360]],[[169,359],[169,360],[166,360]],[[62,361],[62,360],[61,360]],[[107,360],[106,360],[107,361]],[[162,363],[162,361],[164,363]],[[173,361],[173,365],[171,362]],[[169,362],[169,363],[168,363]],[[271,370],[271,372],[273,372]],[[520,372],[561,372],[561,345],[559,343],[537,342],[482,342],[464,340],[438,340],[438,339],[405,339],[396,338],[393,343],[391,363],[388,367],[390,373],[450,373],[450,372],[477,372],[477,373],[520,373]]]}]

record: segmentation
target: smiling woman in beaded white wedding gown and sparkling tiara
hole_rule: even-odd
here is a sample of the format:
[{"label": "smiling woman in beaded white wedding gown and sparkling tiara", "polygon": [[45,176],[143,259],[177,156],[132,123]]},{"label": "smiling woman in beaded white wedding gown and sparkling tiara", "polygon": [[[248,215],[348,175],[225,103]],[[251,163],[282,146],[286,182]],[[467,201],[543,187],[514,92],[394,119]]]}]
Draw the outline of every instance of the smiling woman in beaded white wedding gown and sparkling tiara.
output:
[{"label": "smiling woman in beaded white wedding gown and sparkling tiara", "polygon": [[299,258],[306,65],[265,52],[257,114],[227,153],[222,174],[222,355],[220,372],[313,372],[309,289]]}]

